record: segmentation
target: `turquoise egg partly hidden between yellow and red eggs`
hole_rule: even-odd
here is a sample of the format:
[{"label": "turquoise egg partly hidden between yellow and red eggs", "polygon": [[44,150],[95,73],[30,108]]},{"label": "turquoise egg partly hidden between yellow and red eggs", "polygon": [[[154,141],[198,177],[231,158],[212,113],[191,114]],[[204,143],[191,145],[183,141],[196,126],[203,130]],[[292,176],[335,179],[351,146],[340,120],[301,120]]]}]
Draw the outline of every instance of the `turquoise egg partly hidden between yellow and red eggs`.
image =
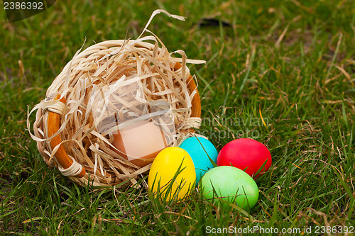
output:
[{"label": "turquoise egg partly hidden between yellow and red eggs", "polygon": [[182,142],[179,147],[190,154],[195,164],[197,186],[204,173],[214,167],[209,158],[211,158],[214,163],[217,162],[218,152],[216,147],[204,137],[189,137]]}]

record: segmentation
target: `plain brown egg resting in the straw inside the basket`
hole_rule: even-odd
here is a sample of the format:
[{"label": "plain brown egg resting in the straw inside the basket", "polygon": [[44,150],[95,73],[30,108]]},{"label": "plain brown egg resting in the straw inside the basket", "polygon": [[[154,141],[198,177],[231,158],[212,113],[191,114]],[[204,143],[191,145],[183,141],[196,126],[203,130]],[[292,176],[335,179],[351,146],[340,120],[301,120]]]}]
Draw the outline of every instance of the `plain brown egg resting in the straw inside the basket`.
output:
[{"label": "plain brown egg resting in the straw inside the basket", "polygon": [[144,167],[153,162],[156,155],[167,147],[163,132],[154,123],[140,121],[114,133],[112,145],[121,154],[138,167]]}]

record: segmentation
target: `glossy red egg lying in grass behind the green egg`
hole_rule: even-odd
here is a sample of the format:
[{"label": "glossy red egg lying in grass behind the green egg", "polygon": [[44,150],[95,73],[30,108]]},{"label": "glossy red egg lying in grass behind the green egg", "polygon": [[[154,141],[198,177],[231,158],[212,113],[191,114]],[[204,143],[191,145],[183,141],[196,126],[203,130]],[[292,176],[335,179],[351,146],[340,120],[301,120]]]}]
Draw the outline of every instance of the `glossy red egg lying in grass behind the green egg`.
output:
[{"label": "glossy red egg lying in grass behind the green egg", "polygon": [[[265,162],[265,166],[261,169]],[[244,170],[256,179],[271,167],[271,154],[261,142],[241,138],[228,142],[222,147],[217,157],[217,166],[233,166]],[[261,171],[256,175],[259,169]]]}]

